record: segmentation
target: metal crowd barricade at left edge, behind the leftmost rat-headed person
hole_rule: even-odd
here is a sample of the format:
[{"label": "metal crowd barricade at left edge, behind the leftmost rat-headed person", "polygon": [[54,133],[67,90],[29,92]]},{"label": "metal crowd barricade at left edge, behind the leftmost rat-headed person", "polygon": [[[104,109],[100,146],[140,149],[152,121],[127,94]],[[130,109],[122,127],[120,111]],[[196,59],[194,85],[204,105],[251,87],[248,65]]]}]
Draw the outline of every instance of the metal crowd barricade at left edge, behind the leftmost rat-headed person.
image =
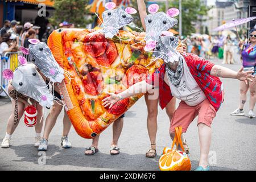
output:
[{"label": "metal crowd barricade at left edge, behind the leftmost rat-headed person", "polygon": [[[2,73],[5,69],[11,69],[11,71],[14,71],[16,68],[19,67],[19,61],[18,56],[23,55],[22,52],[6,52],[5,55],[1,55],[1,68],[0,68],[0,78],[1,78],[1,87],[0,87],[0,94],[1,96],[8,96],[11,98],[6,91],[7,86],[9,84],[8,80],[5,80],[3,78]],[[27,56],[27,55],[26,55]],[[4,93],[2,93],[4,92]]]}]

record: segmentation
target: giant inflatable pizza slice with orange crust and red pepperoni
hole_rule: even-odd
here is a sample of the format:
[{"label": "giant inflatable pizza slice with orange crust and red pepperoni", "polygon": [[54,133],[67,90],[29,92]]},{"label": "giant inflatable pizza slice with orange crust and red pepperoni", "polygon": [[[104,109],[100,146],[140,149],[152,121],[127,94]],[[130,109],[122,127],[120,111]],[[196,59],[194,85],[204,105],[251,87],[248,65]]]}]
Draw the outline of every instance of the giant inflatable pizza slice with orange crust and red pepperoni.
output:
[{"label": "giant inflatable pizza slice with orange crust and red pepperoni", "polygon": [[81,137],[96,137],[143,96],[118,101],[111,109],[102,106],[109,92],[122,92],[163,64],[144,52],[143,39],[121,30],[113,39],[87,29],[59,29],[49,36],[48,46],[66,72],[61,96]]}]

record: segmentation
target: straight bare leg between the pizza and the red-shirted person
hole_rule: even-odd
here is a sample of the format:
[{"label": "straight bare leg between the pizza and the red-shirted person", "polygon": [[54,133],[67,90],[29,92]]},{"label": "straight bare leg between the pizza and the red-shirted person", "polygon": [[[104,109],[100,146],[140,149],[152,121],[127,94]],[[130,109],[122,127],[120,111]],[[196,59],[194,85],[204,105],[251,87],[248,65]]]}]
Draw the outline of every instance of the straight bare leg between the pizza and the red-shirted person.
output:
[{"label": "straight bare leg between the pizza and the red-shirted person", "polygon": [[149,94],[145,94],[145,101],[147,105],[147,131],[150,137],[151,148],[156,149],[156,131],[158,130],[157,115],[159,100],[149,100],[148,97]]}]

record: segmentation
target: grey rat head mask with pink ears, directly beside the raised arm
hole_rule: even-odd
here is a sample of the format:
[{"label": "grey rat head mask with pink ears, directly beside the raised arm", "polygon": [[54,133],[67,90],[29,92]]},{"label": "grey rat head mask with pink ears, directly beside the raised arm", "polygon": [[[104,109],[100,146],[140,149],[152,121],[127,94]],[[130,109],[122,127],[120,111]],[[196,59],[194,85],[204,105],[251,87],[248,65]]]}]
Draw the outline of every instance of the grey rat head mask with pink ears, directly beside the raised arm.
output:
[{"label": "grey rat head mask with pink ears, directly beside the raised arm", "polygon": [[174,16],[179,15],[178,9],[171,8],[167,10],[167,13],[158,12],[158,10],[158,5],[150,5],[148,7],[148,12],[150,14],[148,14],[144,19],[146,24],[146,51],[148,49],[154,49],[155,44],[159,40],[159,36],[170,30],[178,22],[177,19],[173,18]]}]

